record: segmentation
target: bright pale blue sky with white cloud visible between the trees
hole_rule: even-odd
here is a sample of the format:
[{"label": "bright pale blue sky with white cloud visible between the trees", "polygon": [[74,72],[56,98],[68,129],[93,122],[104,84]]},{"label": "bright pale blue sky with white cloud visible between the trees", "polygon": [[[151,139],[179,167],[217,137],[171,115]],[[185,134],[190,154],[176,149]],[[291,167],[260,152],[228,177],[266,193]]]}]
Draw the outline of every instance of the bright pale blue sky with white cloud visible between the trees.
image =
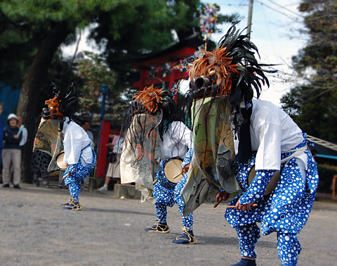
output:
[{"label": "bright pale blue sky with white cloud visible between the trees", "polygon": [[[204,3],[218,3],[220,13],[232,14],[239,13],[242,21],[237,25],[237,29],[244,29],[247,25],[249,0],[214,0],[203,1]],[[270,88],[265,87],[260,99],[265,99],[278,106],[279,99],[293,85],[291,82],[284,82],[291,78],[284,75],[284,72],[291,73],[287,64],[291,64],[291,57],[296,55],[298,49],[305,45],[305,36],[298,38],[296,29],[303,27],[300,23],[302,18],[298,13],[298,0],[254,0],[253,16],[251,26],[251,41],[256,44],[260,52],[260,62],[266,64],[281,64],[279,78],[270,77]],[[296,15],[297,14],[297,15]],[[230,25],[225,25],[223,34],[229,29]],[[245,32],[245,31],[244,31]],[[223,34],[213,34],[213,41],[219,41]],[[294,38],[296,36],[296,38]],[[68,46],[62,50],[67,55],[72,55],[76,45]],[[94,43],[86,41],[86,32],[82,33],[79,44],[79,51],[93,50],[98,52]]]}]

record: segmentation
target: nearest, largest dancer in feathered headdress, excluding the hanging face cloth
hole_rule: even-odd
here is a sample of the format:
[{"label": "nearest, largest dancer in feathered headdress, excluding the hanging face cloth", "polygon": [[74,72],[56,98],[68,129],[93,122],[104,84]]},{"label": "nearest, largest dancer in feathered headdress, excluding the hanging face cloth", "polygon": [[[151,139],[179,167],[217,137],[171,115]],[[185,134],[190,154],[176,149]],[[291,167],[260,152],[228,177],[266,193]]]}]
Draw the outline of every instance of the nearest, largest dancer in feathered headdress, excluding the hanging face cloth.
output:
[{"label": "nearest, largest dancer in feathered headdress, excluding the hanging face cloth", "polygon": [[[242,260],[232,266],[256,265],[255,244],[260,238],[256,223],[261,223],[263,235],[277,233],[282,265],[296,265],[301,250],[297,234],[308,221],[315,200],[317,167],[307,148],[306,134],[296,123],[274,104],[253,99],[253,88],[258,97],[261,84],[269,86],[261,68],[265,65],[258,64],[254,50],[258,53],[247,36],[232,26],[215,50],[204,51],[204,56],[194,61],[191,95],[220,94],[230,104],[230,123],[238,142],[234,171],[242,189],[230,203],[234,209],[225,213],[237,230],[242,253]],[[202,80],[198,79],[201,76]],[[209,116],[216,116],[211,108]],[[208,138],[213,136],[208,134]],[[253,167],[256,174],[249,185]],[[276,187],[266,193],[277,172]],[[221,191],[217,200],[226,200],[227,192]]]}]

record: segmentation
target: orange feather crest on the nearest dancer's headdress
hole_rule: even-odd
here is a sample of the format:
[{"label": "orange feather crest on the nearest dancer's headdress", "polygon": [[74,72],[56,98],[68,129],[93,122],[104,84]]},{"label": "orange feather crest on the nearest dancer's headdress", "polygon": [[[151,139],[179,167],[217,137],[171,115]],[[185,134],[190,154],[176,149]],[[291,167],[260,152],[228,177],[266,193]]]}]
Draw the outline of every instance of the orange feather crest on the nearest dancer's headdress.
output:
[{"label": "orange feather crest on the nearest dancer's headdress", "polygon": [[[212,77],[213,83],[216,83],[220,89],[220,95],[227,95],[232,88],[231,75],[239,73],[236,69],[237,64],[232,63],[232,57],[226,57],[226,48],[222,45],[215,48],[212,52],[202,50],[203,57],[195,60],[189,69],[190,78],[210,78]],[[213,85],[213,84],[212,84]]]}]

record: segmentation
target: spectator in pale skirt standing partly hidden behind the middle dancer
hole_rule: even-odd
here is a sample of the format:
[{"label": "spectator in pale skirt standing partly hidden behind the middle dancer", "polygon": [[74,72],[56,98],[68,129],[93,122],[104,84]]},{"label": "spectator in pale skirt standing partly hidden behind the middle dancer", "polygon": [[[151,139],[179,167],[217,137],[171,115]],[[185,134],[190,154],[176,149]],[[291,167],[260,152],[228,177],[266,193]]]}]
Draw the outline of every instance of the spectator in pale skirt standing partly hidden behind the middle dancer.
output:
[{"label": "spectator in pale skirt standing partly hidden behind the middle dancer", "polygon": [[[121,183],[121,172],[120,172],[120,161],[121,161],[121,150],[124,144],[124,132],[119,132],[121,135],[115,137],[116,142],[112,141],[112,144],[107,144],[110,147],[113,147],[113,153],[116,154],[116,161],[110,162],[109,167],[107,169],[107,176],[105,176],[105,183],[102,188],[98,188],[98,190],[106,191],[107,186],[109,185],[110,180],[113,178],[117,179],[117,184]],[[114,140],[115,140],[114,138]]]}]

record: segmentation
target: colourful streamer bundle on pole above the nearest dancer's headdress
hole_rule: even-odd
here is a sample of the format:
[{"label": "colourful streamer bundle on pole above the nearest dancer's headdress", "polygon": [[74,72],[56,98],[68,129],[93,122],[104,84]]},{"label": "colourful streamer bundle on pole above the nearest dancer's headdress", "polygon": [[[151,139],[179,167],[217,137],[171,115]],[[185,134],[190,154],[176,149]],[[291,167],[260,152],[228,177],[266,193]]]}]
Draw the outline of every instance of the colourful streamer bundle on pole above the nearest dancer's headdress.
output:
[{"label": "colourful streamer bundle on pole above the nearest dancer's headdress", "polygon": [[206,5],[198,4],[197,10],[200,13],[201,33],[204,36],[206,43],[208,43],[209,38],[211,38],[214,25],[216,24],[216,19],[218,18],[220,6],[217,3],[214,3],[213,5],[210,3],[207,3]]}]

